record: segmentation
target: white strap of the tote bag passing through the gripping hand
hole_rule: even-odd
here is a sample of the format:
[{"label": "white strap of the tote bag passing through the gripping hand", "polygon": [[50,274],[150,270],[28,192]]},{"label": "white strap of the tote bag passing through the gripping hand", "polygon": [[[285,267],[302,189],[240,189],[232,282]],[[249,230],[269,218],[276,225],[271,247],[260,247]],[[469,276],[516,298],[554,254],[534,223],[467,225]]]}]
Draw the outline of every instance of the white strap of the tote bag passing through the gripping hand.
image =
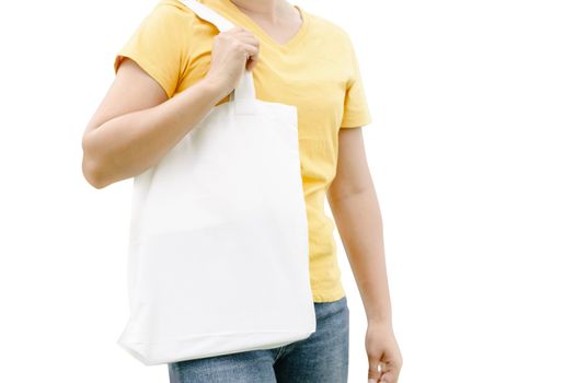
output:
[{"label": "white strap of the tote bag passing through the gripping hand", "polygon": [[[197,0],[180,0],[180,2],[194,11],[198,18],[214,24],[220,32],[226,32],[235,26],[231,21]],[[255,101],[255,86],[251,70],[244,69],[243,77],[232,91],[230,100],[239,102],[242,108],[249,109],[248,112],[253,109],[254,105],[252,102]]]}]

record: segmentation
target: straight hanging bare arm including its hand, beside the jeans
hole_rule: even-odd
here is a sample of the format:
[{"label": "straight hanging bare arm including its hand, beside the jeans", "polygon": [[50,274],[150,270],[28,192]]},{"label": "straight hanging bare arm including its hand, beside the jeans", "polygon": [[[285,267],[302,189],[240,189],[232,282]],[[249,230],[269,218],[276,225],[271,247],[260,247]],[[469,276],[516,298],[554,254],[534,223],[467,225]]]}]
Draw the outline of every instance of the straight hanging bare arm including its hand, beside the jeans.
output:
[{"label": "straight hanging bare arm including its hand, beside the jeans", "polygon": [[[368,320],[368,378],[395,382],[402,357],[393,335],[383,224],[367,164],[361,127],[340,129],[337,171],[327,200]],[[378,363],[383,362],[381,372]]]}]

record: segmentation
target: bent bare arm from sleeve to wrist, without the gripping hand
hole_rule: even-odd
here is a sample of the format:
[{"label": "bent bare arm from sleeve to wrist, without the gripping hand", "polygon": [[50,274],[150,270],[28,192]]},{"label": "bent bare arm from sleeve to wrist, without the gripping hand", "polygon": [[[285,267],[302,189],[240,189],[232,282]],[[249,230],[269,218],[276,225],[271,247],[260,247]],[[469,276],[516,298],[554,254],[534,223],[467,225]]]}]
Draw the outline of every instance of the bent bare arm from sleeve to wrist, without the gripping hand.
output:
[{"label": "bent bare arm from sleeve to wrist, without the gripping hand", "polygon": [[228,90],[207,78],[172,98],[125,58],[82,137],[82,172],[96,188],[156,164]]}]

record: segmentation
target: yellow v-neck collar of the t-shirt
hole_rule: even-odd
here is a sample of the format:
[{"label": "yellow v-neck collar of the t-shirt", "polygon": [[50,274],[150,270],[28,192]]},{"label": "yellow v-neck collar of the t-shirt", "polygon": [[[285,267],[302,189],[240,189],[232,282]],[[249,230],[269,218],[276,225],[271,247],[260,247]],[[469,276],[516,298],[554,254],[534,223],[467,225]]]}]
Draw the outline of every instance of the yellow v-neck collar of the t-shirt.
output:
[{"label": "yellow v-neck collar of the t-shirt", "polygon": [[[301,7],[292,4],[300,13],[300,16],[302,19],[301,24],[299,26],[299,30],[296,32],[291,38],[285,43],[279,44],[275,39],[273,39],[267,32],[264,31],[263,27],[260,26],[252,18],[250,18],[248,14],[243,13],[232,1],[230,0],[200,0],[202,2],[205,2],[206,5],[212,7],[215,11],[219,11],[222,13],[223,16],[235,16],[240,19],[241,21],[245,22],[248,26],[251,26],[253,28],[253,32],[260,36],[262,39],[264,39],[269,46],[272,46],[275,49],[286,51],[290,48],[295,47],[306,35],[309,26],[309,15],[308,13],[301,9]],[[233,20],[230,20],[233,22]]]}]

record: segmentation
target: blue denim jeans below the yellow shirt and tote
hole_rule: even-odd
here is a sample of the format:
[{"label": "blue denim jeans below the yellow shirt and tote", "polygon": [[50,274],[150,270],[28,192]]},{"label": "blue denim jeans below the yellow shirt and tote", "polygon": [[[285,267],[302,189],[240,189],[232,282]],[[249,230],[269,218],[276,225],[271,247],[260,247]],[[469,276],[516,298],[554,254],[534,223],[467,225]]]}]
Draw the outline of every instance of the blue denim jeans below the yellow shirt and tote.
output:
[{"label": "blue denim jeans below the yellow shirt and tote", "polygon": [[313,305],[317,328],[308,338],[277,348],[168,363],[170,383],[346,383],[347,299]]}]

